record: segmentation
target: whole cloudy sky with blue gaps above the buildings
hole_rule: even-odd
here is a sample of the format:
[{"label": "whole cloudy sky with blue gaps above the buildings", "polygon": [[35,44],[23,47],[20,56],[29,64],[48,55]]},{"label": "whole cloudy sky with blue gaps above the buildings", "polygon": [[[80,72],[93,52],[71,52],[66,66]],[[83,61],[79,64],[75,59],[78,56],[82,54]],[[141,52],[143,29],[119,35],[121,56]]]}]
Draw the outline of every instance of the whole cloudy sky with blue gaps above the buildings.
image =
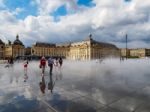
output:
[{"label": "whole cloudy sky with blue gaps above the buildings", "polygon": [[150,0],[0,0],[0,38],[26,46],[65,43],[89,33],[102,42],[150,48]]}]

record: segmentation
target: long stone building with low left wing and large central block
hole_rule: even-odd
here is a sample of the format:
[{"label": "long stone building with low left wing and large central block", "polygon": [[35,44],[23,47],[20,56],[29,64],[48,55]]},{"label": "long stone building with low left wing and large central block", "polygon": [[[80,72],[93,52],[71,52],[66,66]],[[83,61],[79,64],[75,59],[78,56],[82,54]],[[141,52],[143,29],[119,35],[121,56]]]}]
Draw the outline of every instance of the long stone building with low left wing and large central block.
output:
[{"label": "long stone building with low left wing and large central block", "polygon": [[32,55],[62,56],[74,60],[90,60],[109,56],[119,56],[119,49],[115,45],[95,41],[92,39],[92,35],[84,41],[69,44],[55,45],[36,43],[31,49]]}]

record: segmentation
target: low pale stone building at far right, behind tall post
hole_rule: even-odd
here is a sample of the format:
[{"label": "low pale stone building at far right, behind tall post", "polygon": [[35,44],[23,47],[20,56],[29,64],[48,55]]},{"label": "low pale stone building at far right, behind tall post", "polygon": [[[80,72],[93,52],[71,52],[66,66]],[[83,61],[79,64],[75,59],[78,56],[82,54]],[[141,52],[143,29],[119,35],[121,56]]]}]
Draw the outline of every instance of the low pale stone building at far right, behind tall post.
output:
[{"label": "low pale stone building at far right, behind tall post", "polygon": [[[121,49],[121,56],[126,56],[126,49]],[[149,57],[150,56],[150,49],[145,48],[138,48],[138,49],[128,49],[127,50],[127,57]]]}]

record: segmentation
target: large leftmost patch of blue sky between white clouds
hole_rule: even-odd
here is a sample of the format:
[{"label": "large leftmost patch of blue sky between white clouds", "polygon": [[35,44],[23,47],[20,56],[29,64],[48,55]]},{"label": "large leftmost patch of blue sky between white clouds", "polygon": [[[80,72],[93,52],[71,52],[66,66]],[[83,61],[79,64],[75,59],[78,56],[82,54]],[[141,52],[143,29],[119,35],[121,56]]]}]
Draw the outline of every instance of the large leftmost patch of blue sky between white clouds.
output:
[{"label": "large leftmost patch of blue sky between white clouds", "polygon": [[37,15],[37,6],[36,5],[31,5],[30,4],[31,0],[5,0],[4,3],[6,7],[10,11],[15,11],[16,8],[21,8],[23,9],[22,12],[20,12],[16,17],[18,19],[24,19],[28,15]]}]

